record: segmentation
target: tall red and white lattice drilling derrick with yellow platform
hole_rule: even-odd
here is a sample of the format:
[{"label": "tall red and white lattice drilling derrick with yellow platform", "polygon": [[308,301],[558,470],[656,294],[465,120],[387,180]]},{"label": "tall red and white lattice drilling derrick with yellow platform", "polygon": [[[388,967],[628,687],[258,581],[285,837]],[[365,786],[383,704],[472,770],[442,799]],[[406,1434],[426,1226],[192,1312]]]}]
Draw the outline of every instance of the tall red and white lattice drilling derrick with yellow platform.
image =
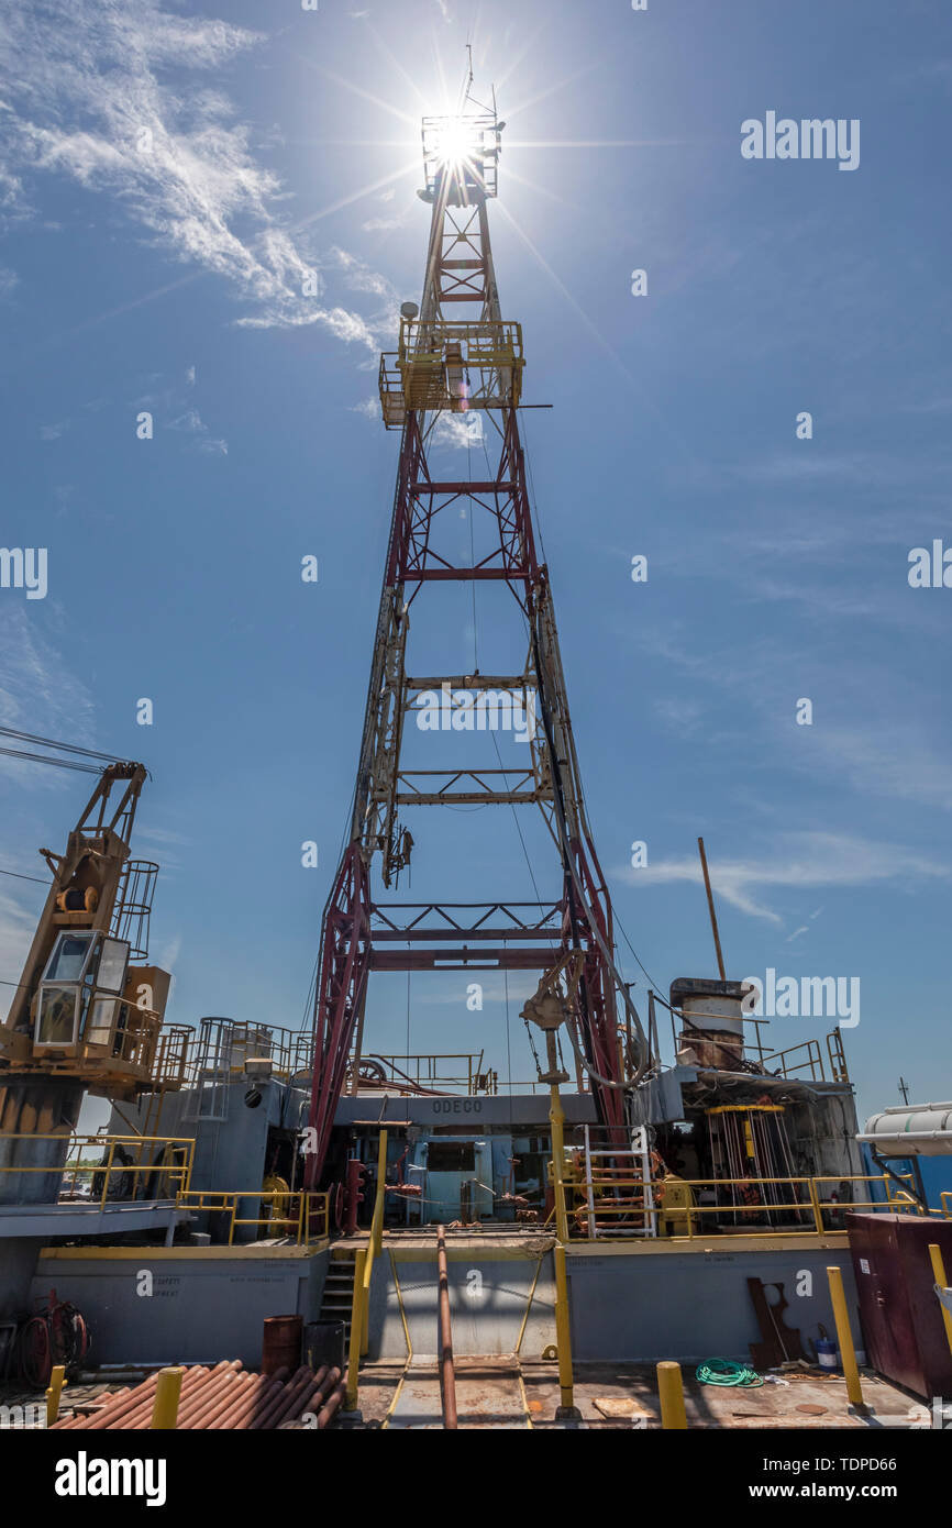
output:
[{"label": "tall red and white lattice drilling derrick with yellow platform", "polygon": [[[380,408],[400,431],[400,458],[350,839],[324,912],[315,989],[315,1063],[310,1125],[316,1183],[338,1099],[361,1057],[371,970],[572,969],[568,1038],[584,1065],[608,1138],[623,1144],[627,1074],[617,1001],[640,1056],[645,1038],[613,960],[611,905],[585,821],[578,758],[547,568],[536,555],[518,411],[521,325],[503,318],[489,238],[487,202],[497,194],[500,134],[494,112],[423,121],[425,188],[431,205],[423,296],[405,303],[397,350],[380,358]],[[483,478],[440,477],[431,461],[440,420],[480,422],[489,463]],[[495,458],[495,466],[492,460]],[[484,516],[491,550],[460,565],[446,536],[446,510]],[[413,677],[410,614],[434,584],[498,581],[516,601],[529,637],[507,675]],[[417,607],[419,608],[419,607]],[[523,769],[428,769],[402,764],[408,711],[422,692],[521,689],[535,721]],[[475,740],[474,740],[475,741]],[[486,740],[478,740],[484,743]],[[380,902],[371,891],[379,857],[385,891],[410,862],[413,837],[400,808],[536,804],[550,830],[561,895],[549,903]],[[475,964],[474,964],[475,963]]]}]

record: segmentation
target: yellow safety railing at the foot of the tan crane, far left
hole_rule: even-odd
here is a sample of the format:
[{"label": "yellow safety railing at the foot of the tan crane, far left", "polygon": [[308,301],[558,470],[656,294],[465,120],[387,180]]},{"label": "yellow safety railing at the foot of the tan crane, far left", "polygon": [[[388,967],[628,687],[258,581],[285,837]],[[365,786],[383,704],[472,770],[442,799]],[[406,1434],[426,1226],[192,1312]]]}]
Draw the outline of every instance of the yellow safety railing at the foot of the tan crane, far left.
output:
[{"label": "yellow safety railing at the foot of the tan crane, far left", "polygon": [[[193,1155],[196,1143],[183,1135],[70,1135],[63,1137],[55,1132],[3,1132],[0,1146],[6,1141],[69,1141],[69,1157],[63,1166],[47,1163],[26,1166],[23,1163],[3,1163],[0,1174],[6,1178],[18,1174],[60,1174],[58,1203],[70,1201],[95,1203],[104,1207],[112,1199],[150,1198],[174,1199],[176,1195],[188,1189]],[[84,1161],[84,1151],[104,1152],[104,1160],[98,1163]],[[78,1154],[78,1155],[76,1155]],[[131,1157],[133,1160],[125,1160]],[[144,1184],[139,1180],[147,1180]],[[156,1181],[148,1183],[150,1178]],[[83,1180],[89,1180],[89,1193],[79,1192]],[[99,1183],[102,1187],[99,1189]],[[131,1183],[131,1193],[122,1192]],[[119,1192],[116,1192],[119,1189]],[[142,1189],[142,1192],[139,1192]],[[156,1192],[150,1192],[156,1190]]]}]

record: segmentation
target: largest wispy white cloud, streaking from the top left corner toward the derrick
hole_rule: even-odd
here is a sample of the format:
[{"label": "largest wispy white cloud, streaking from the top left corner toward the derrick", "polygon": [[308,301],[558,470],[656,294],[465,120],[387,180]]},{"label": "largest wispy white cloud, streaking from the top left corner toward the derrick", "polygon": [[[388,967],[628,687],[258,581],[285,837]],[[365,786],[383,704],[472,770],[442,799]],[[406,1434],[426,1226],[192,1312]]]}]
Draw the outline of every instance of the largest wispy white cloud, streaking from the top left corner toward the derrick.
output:
[{"label": "largest wispy white cloud, streaking from the top left corner toward the derrick", "polygon": [[174,258],[225,278],[251,309],[243,322],[313,324],[367,344],[358,315],[306,295],[313,261],[287,228],[278,177],[220,89],[223,70],[263,41],[159,0],[8,8],[0,197],[23,209],[26,179],[66,176],[116,197]]}]

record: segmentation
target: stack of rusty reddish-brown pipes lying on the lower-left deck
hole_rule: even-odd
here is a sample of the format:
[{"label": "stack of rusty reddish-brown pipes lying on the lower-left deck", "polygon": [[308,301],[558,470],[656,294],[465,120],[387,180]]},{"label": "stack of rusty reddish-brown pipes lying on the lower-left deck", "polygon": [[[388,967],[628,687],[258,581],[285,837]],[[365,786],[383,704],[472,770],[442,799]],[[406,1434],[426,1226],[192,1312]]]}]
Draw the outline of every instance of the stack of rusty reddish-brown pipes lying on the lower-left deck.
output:
[{"label": "stack of rusty reddish-brown pipes lying on the lower-left deck", "polygon": [[[73,1415],[53,1423],[61,1432],[142,1432],[151,1426],[157,1375],[142,1384],[113,1390],[92,1415]],[[222,1360],[214,1369],[186,1368],[179,1398],[179,1432],[270,1432],[316,1416],[318,1429],[327,1427],[341,1407],[347,1386],[339,1369],[310,1369],[303,1365],[249,1374],[238,1358]]]}]

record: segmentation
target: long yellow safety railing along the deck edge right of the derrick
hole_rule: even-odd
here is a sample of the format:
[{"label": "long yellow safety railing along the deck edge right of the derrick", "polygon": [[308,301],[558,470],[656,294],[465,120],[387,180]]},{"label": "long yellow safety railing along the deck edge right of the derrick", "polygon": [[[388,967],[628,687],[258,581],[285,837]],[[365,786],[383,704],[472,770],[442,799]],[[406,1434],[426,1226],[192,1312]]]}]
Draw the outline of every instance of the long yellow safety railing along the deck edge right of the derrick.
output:
[{"label": "long yellow safety railing along the deck edge right of the derrick", "polygon": [[[623,1155],[623,1154],[622,1154]],[[627,1169],[630,1170],[630,1169]],[[915,1212],[923,1215],[924,1210],[918,1201],[902,1187],[895,1187],[897,1177],[912,1183],[912,1174],[888,1175],[888,1174],[837,1174],[830,1177],[784,1177],[784,1178],[672,1178],[672,1186],[678,1189],[688,1189],[688,1203],[678,1199],[669,1209],[665,1207],[665,1178],[654,1177],[617,1177],[611,1167],[599,1167],[591,1172],[590,1177],[584,1174],[573,1172],[573,1167],[567,1163],[564,1170],[564,1181],[567,1193],[575,1195],[575,1203],[570,1209],[570,1219],[573,1221],[573,1239],[582,1238],[585,1241],[594,1239],[591,1235],[591,1224],[594,1222],[599,1239],[611,1239],[613,1235],[623,1236],[631,1235],[631,1230],[625,1232],[622,1222],[628,1225],[637,1222],[643,1230],[648,1225],[660,1219],[677,1219],[680,1225],[685,1227],[683,1232],[677,1232],[674,1239],[682,1235],[692,1241],[698,1235],[711,1235],[711,1230],[704,1232],[701,1216],[733,1216],[733,1230],[717,1230],[718,1238],[730,1236],[796,1236],[796,1235],[825,1235],[831,1227],[827,1224],[824,1216],[831,1213],[844,1213],[845,1210],[895,1210],[902,1207],[905,1212]],[[885,1198],[837,1198],[824,1195],[824,1184],[874,1184],[883,1186]],[[750,1190],[755,1189],[759,1199],[753,1203],[743,1203],[733,1193],[735,1189]],[[790,1195],[788,1199],[781,1198],[781,1189]],[[646,1192],[648,1190],[648,1192]],[[698,1193],[695,1190],[704,1190],[715,1193],[717,1203],[701,1204],[698,1203]],[[764,1190],[770,1190],[769,1193]],[[729,1198],[723,1198],[729,1195]],[[773,1196],[776,1195],[776,1198]],[[952,1193],[947,1195],[952,1206]],[[943,1198],[943,1212],[946,1210],[946,1196]],[[769,1230],[755,1230],[752,1225],[744,1227],[744,1218],[753,1219],[755,1216],[763,1218],[766,1215],[790,1215],[801,1216],[808,1221],[804,1225],[772,1225]],[[617,1229],[611,1225],[611,1219],[619,1222]],[[737,1225],[740,1219],[740,1225]],[[605,1224],[608,1221],[608,1224]],[[652,1227],[654,1229],[654,1227]]]}]

